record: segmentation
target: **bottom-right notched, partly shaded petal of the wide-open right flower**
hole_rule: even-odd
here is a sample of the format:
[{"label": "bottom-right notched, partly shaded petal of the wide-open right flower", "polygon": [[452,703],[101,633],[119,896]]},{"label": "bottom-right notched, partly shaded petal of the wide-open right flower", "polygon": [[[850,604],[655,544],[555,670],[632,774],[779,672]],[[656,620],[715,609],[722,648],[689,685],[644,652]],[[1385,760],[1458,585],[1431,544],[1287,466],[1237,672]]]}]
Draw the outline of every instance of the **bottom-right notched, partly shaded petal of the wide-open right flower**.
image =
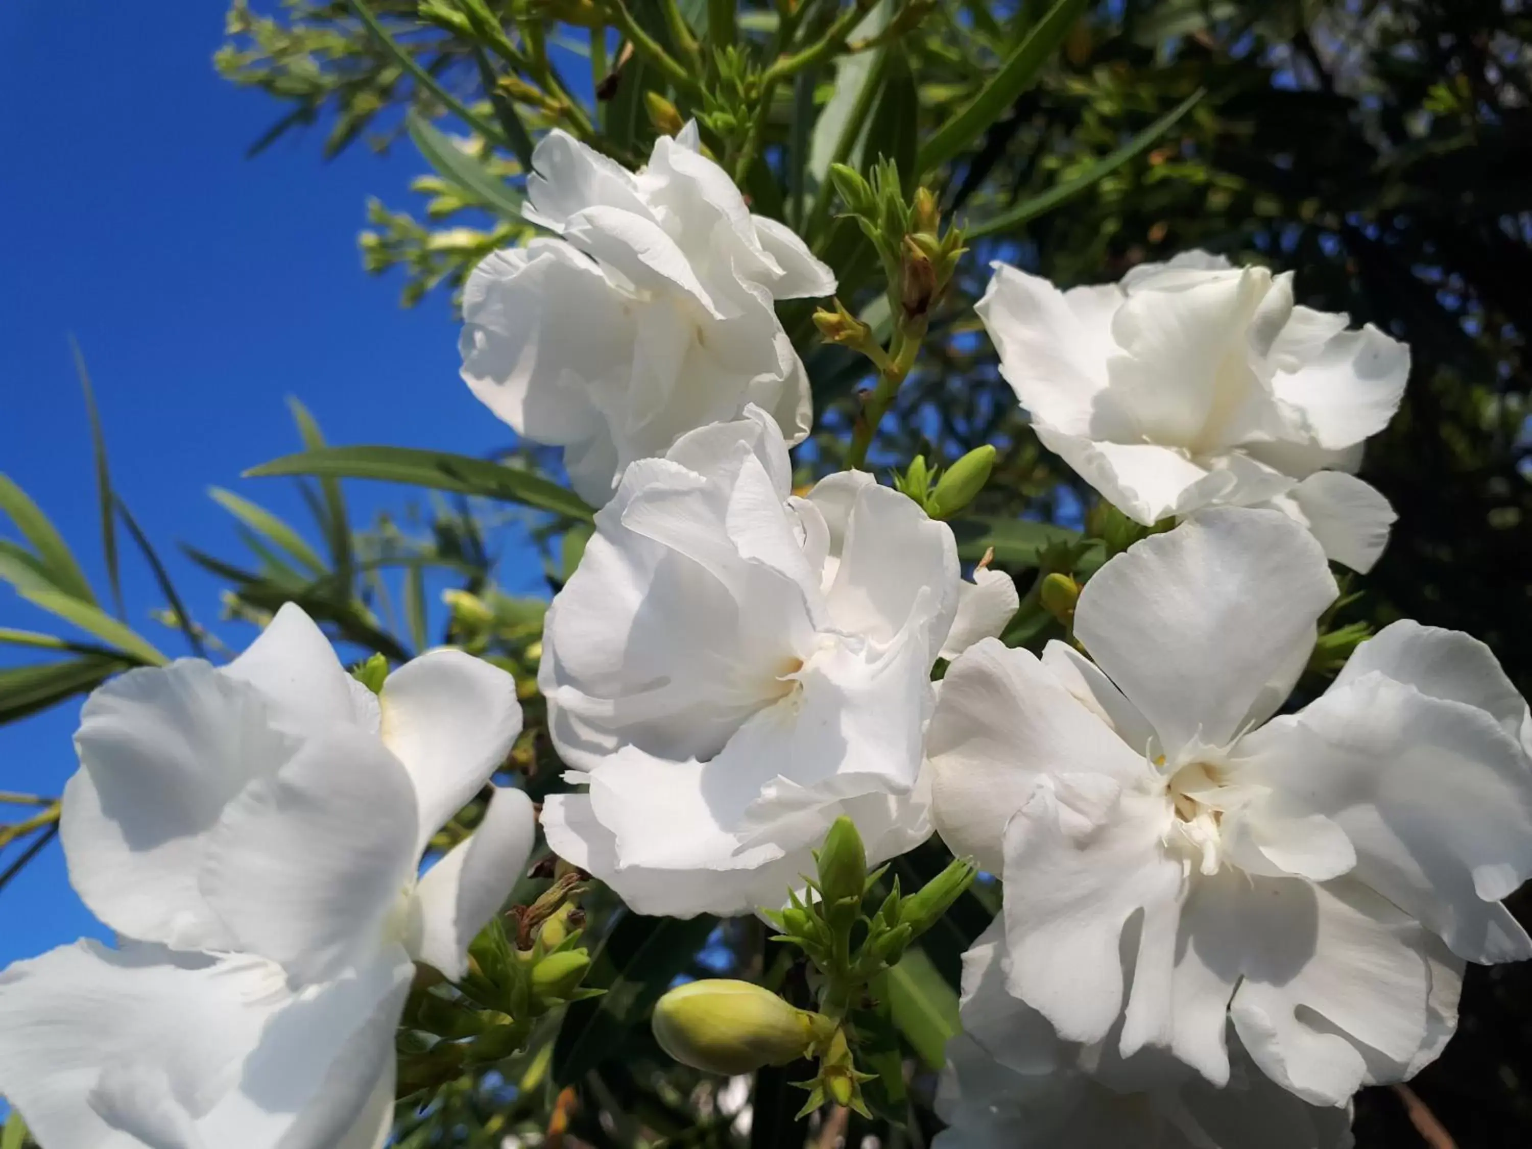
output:
[{"label": "bottom-right notched, partly shaded petal of the wide-open right flower", "polygon": [[1229,1005],[1256,1065],[1314,1105],[1400,1080],[1426,1040],[1426,935],[1353,881],[1253,879]]}]

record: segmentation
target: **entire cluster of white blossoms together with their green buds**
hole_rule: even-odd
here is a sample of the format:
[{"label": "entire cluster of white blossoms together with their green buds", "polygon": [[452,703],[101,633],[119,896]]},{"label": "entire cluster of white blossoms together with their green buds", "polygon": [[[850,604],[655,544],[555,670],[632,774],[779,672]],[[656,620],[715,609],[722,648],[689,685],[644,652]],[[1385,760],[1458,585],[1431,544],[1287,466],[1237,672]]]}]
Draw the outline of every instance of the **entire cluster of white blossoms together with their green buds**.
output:
[{"label": "entire cluster of white blossoms together with their green buds", "polygon": [[[997,267],[977,311],[1037,435],[1154,529],[1068,584],[1039,656],[1002,640],[1011,578],[965,576],[944,521],[993,449],[935,487],[924,458],[794,486],[810,403],[774,302],[835,280],[696,127],[639,173],[561,132],[533,165],[527,218],[558,239],[473,273],[461,348],[599,507],[542,636],[571,784],[544,833],[568,882],[760,912],[817,967],[818,1011],[673,993],[662,1048],[729,1074],[813,1056],[810,1106],[861,1108],[863,991],[977,866],[1003,907],[964,961],[939,1146],[1340,1149],[1360,1086],[1440,1054],[1465,962],[1532,956],[1501,904],[1532,875],[1532,717],[1489,650],[1396,622],[1288,705],[1330,562],[1365,571],[1388,538],[1353,472],[1403,345],[1203,253],[1065,293]],[[895,176],[879,251],[919,285],[930,244],[896,241],[936,234],[935,199],[895,202]],[[876,414],[925,331],[905,311],[896,354],[821,313],[876,365]],[[97,691],[61,833],[121,944],[0,976],[0,1092],[49,1149],[381,1144],[417,965],[493,980],[467,947],[525,866],[529,798],[493,791],[420,867],[519,729],[489,663],[440,650],[374,689],[293,605],[227,666]],[[962,861],[924,890],[867,872],[933,832]],[[590,961],[558,898],[522,925],[564,1002]]]}]

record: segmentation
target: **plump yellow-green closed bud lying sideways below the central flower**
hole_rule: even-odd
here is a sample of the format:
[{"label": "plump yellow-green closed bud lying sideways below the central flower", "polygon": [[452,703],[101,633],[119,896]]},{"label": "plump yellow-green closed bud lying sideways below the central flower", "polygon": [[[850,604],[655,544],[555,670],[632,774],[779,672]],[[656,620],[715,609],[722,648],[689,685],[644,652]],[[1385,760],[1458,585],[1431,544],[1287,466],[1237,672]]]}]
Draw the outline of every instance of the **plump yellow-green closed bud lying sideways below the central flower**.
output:
[{"label": "plump yellow-green closed bud lying sideways below the central flower", "polygon": [[804,1057],[833,1028],[771,990],[722,977],[676,987],[654,1005],[651,1023],[677,1062],[728,1075]]}]

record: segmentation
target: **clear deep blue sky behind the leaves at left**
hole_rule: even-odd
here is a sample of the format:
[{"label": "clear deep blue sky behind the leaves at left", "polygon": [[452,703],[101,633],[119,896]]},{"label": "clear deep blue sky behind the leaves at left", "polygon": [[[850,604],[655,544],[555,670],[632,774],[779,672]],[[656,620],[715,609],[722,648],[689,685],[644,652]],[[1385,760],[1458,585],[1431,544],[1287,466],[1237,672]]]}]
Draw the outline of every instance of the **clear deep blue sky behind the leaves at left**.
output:
[{"label": "clear deep blue sky behind the leaves at left", "polygon": [[[90,447],[67,334],[95,377],[115,483],[195,616],[214,622],[219,585],[176,541],[237,556],[207,496],[234,487],[279,513],[279,480],[239,480],[294,449],[285,397],[332,441],[481,453],[509,441],[458,380],[446,297],[398,306],[398,280],[362,271],[368,195],[401,207],[423,164],[408,142],[325,162],[319,135],[247,146],[277,106],[213,72],[224,5],[0,3],[0,470],[54,516],[104,587]],[[357,510],[404,495],[352,484]],[[360,518],[360,513],[354,513]],[[8,533],[0,527],[0,533]],[[530,558],[507,571],[530,585]],[[167,653],[175,636],[135,558],[129,617]],[[54,630],[0,585],[0,627]],[[222,627],[242,647],[248,628]],[[0,665],[29,660],[0,648]],[[78,703],[0,726],[0,791],[58,794],[75,768]],[[15,807],[0,807],[11,820]],[[0,867],[14,856],[0,855]],[[64,881],[57,843],[0,893],[0,967],[100,927]]]}]

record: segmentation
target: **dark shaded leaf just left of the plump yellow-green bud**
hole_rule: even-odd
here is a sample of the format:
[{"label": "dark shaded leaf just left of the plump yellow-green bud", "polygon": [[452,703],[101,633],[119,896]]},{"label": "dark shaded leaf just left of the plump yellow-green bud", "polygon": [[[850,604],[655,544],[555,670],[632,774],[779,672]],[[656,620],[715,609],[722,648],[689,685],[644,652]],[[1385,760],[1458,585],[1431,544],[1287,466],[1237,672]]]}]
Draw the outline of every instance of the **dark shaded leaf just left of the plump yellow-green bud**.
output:
[{"label": "dark shaded leaf just left of the plump yellow-green bud", "polygon": [[613,927],[599,954],[597,971],[610,970],[602,997],[576,1002],[564,1014],[553,1046],[553,1080],[581,1080],[617,1054],[628,1030],[648,1025],[654,1002],[682,973],[717,925],[706,915],[689,919],[627,913]]}]

